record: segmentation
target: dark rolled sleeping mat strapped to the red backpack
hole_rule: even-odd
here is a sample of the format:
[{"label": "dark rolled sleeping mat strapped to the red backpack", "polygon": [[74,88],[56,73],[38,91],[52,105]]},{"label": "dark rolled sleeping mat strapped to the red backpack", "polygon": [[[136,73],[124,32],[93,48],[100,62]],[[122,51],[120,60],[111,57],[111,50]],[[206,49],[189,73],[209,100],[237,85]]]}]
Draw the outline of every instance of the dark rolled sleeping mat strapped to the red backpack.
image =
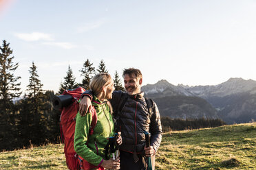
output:
[{"label": "dark rolled sleeping mat strapped to the red backpack", "polygon": [[52,99],[52,105],[55,110],[60,110],[63,107],[67,107],[72,104],[72,96],[71,95],[59,95],[54,96]]}]

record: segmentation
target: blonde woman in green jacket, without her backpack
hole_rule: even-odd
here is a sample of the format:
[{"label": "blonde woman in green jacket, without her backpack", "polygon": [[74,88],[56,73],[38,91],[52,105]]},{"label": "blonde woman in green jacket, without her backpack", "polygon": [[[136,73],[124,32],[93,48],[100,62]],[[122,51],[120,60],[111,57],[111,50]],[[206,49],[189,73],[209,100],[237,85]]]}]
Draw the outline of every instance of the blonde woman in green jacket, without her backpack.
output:
[{"label": "blonde woman in green jacket, without her backpack", "polygon": [[[89,135],[89,127],[92,122],[92,114],[76,114],[76,130],[74,134],[74,149],[76,153],[94,168],[120,169],[120,160],[106,160],[104,147],[109,136],[114,136],[114,121],[111,117],[111,106],[107,99],[112,98],[114,81],[108,73],[99,73],[92,78],[89,88],[94,92],[92,105],[94,106],[98,121],[94,127],[94,133]],[[118,138],[121,143],[121,138]],[[83,165],[85,166],[85,165]],[[103,167],[103,168],[102,168]]]}]

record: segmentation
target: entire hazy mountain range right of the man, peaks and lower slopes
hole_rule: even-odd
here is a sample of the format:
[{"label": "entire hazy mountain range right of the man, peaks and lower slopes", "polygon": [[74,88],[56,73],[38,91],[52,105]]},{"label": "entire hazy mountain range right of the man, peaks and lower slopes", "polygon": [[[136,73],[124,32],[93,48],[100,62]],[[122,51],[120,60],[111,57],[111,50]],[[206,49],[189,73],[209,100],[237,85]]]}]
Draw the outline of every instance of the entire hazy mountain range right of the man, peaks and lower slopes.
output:
[{"label": "entire hazy mountain range right of the man, peaks and lower slopes", "polygon": [[215,86],[175,86],[160,80],[142,86],[162,116],[181,119],[220,118],[228,124],[256,119],[256,81],[230,78]]}]

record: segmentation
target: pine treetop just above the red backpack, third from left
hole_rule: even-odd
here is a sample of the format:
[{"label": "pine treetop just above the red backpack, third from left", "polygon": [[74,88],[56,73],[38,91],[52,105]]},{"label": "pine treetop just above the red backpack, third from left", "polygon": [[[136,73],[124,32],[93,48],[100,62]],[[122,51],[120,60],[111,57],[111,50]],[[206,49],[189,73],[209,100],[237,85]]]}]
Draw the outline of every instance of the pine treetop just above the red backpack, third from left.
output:
[{"label": "pine treetop just above the red backpack, third from left", "polygon": [[74,77],[72,69],[70,68],[70,65],[69,65],[67,69],[67,76],[64,77],[64,82],[60,84],[58,93],[62,94],[64,90],[74,89],[77,86],[78,84],[76,83],[76,77]]}]

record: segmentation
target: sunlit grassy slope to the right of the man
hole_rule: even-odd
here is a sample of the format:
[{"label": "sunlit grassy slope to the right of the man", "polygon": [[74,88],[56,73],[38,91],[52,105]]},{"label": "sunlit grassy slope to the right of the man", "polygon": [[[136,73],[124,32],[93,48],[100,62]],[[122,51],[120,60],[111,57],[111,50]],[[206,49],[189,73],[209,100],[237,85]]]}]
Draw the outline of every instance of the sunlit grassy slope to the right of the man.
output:
[{"label": "sunlit grassy slope to the right of the man", "polygon": [[156,169],[256,169],[256,123],[163,135]]}]

